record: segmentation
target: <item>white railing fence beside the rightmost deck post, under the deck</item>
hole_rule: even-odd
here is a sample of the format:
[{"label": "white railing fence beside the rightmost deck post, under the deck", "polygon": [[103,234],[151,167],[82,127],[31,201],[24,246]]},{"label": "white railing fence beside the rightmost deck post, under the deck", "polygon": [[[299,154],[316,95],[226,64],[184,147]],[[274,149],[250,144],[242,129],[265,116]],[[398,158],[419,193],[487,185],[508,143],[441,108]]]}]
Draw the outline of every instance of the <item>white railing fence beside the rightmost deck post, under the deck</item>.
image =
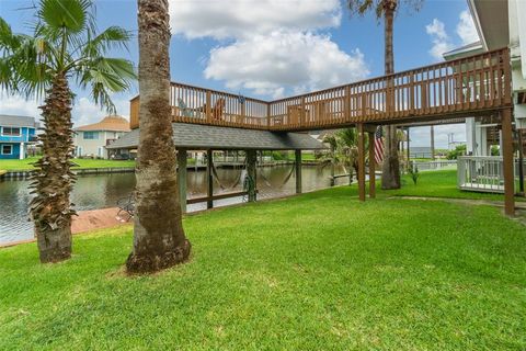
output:
[{"label": "white railing fence beside the rightmost deck post, under the deck", "polygon": [[[460,190],[504,192],[503,161],[500,156],[461,156],[458,158],[457,185]],[[526,168],[523,163],[523,170]],[[514,174],[518,178],[518,160]]]}]

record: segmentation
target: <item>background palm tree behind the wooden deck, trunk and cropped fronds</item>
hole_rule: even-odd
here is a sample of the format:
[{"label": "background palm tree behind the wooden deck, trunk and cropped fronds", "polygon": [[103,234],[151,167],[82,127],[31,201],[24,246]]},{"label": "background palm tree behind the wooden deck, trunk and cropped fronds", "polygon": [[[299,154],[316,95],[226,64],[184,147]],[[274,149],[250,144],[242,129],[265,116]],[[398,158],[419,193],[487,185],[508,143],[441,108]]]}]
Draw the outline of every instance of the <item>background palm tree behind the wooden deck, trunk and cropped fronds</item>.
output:
[{"label": "background palm tree behind the wooden deck, trunk and cropped fronds", "polygon": [[[402,0],[409,8],[420,10],[423,0]],[[395,56],[392,50],[392,22],[399,0],[347,0],[352,14],[365,15],[375,11],[379,20],[385,22],[385,72],[386,76],[395,73]],[[388,82],[389,83],[389,82]],[[392,84],[392,82],[391,82]],[[381,167],[381,189],[400,188],[400,161],[398,158],[397,127],[384,127],[385,147]]]}]

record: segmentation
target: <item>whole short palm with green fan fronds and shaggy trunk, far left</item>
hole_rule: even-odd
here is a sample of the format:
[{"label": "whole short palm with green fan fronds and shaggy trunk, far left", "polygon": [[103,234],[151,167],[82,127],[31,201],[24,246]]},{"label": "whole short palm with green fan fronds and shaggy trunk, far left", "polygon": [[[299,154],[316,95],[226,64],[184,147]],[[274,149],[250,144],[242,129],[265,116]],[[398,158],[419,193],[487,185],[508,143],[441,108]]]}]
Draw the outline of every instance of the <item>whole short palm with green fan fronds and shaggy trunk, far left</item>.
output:
[{"label": "whole short palm with green fan fronds and shaggy trunk, far left", "polygon": [[41,0],[32,35],[14,34],[0,18],[0,86],[3,91],[44,98],[41,136],[43,156],[35,162],[35,194],[31,216],[35,223],[42,262],[71,256],[69,194],[73,149],[70,81],[89,89],[91,98],[112,113],[111,93],[125,91],[136,78],[130,61],[105,57],[126,47],[130,33],[116,26],[96,32],[90,0]]}]

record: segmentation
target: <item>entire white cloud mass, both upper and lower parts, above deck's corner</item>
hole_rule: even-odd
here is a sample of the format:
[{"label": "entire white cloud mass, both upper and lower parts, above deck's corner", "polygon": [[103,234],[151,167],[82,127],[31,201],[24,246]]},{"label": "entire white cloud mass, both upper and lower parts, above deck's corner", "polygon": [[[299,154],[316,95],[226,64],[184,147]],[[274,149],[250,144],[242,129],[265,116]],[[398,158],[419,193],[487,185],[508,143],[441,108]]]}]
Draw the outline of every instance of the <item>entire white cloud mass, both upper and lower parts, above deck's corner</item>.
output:
[{"label": "entire white cloud mass, both upper and lower parts, above deck's corner", "polygon": [[170,0],[170,15],[174,34],[219,41],[204,75],[229,89],[281,98],[369,73],[359,49],[320,34],[340,25],[340,0]]}]

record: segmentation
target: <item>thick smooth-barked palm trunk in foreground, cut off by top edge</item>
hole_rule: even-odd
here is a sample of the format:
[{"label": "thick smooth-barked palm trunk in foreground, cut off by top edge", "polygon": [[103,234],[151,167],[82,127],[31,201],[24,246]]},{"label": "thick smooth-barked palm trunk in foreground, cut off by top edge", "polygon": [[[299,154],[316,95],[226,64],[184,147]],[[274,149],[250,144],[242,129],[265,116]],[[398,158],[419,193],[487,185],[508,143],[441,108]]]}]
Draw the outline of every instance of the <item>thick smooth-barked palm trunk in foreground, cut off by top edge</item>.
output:
[{"label": "thick smooth-barked palm trunk in foreground, cut off by top edge", "polygon": [[170,16],[168,0],[138,0],[139,148],[137,216],[130,273],[155,272],[188,258],[170,120]]}]

